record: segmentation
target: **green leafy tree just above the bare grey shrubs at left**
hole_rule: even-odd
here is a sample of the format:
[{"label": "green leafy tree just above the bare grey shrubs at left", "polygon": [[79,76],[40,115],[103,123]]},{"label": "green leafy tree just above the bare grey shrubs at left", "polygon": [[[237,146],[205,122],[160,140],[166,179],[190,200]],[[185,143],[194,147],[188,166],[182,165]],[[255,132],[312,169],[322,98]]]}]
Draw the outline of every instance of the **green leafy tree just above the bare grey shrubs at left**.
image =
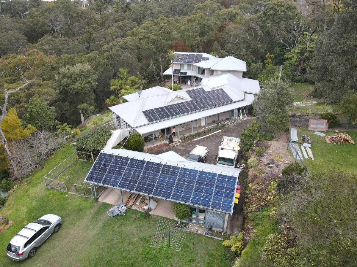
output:
[{"label": "green leafy tree just above the bare grey shrubs at left", "polygon": [[31,124],[36,129],[46,130],[59,124],[53,115],[53,108],[40,99],[31,98],[29,105],[26,106],[26,111],[27,115],[22,118],[25,125]]}]

